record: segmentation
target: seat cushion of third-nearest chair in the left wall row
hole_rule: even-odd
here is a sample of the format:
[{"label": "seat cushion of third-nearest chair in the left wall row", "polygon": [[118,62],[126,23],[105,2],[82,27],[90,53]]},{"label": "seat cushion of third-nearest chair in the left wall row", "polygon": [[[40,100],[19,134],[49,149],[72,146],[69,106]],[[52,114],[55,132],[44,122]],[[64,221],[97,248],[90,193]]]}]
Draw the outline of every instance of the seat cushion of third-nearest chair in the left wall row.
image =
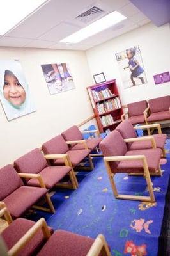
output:
[{"label": "seat cushion of third-nearest chair in the left wall row", "polygon": [[[77,164],[81,163],[81,161],[88,156],[90,153],[89,149],[84,149],[84,150],[69,150],[66,152],[68,156],[70,157],[70,161],[72,163],[72,166],[76,166]],[[56,159],[54,160],[55,165],[64,165],[63,159]]]}]

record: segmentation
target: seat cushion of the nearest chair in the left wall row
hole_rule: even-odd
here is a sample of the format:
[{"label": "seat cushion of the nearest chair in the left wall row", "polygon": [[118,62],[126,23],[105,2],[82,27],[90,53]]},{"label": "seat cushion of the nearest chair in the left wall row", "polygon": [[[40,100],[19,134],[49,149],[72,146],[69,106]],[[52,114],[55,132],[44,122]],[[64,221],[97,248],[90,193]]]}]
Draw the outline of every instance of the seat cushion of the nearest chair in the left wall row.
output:
[{"label": "seat cushion of the nearest chair in the left wall row", "polygon": [[4,198],[3,202],[7,205],[12,217],[19,218],[27,209],[45,195],[45,193],[47,193],[47,189],[45,188],[21,186]]}]

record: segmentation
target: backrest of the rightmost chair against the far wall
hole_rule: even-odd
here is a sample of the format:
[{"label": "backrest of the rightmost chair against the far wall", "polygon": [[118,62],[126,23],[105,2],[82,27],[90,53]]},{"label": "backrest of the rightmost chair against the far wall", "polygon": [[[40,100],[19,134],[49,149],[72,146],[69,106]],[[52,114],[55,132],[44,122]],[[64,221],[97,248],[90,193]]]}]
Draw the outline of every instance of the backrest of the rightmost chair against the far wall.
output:
[{"label": "backrest of the rightmost chair against the far wall", "polygon": [[155,99],[150,99],[149,100],[149,105],[150,105],[150,112],[151,113],[169,110],[170,96],[167,95],[167,96],[164,96],[164,97],[158,97],[158,98],[155,98]]}]

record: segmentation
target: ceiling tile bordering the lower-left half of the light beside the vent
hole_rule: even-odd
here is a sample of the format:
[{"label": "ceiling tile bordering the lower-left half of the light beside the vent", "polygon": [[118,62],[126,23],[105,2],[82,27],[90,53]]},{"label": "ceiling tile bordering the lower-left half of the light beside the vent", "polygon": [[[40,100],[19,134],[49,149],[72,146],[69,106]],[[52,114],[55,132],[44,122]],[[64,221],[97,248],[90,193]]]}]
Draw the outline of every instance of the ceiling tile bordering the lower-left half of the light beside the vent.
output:
[{"label": "ceiling tile bordering the lower-left half of the light beside the vent", "polygon": [[73,26],[72,24],[62,22],[55,28],[50,29],[50,31],[38,37],[38,39],[59,42],[59,40],[65,38],[68,35],[71,35],[79,29],[81,28],[78,26]]}]

